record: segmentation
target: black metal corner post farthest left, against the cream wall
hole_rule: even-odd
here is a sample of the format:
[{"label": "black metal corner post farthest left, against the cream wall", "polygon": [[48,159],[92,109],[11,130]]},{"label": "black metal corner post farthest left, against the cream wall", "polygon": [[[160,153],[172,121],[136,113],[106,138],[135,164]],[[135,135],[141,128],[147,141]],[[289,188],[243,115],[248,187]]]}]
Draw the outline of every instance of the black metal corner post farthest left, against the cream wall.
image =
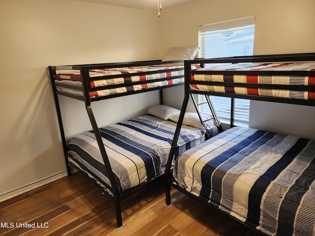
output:
[{"label": "black metal corner post farthest left, against the cream wall", "polygon": [[48,68],[49,68],[49,74],[50,74],[50,78],[51,78],[50,81],[51,81],[53,94],[54,94],[55,106],[56,106],[56,111],[57,111],[59,129],[60,129],[60,135],[61,135],[61,140],[62,140],[62,144],[63,144],[63,155],[64,155],[65,164],[66,164],[67,175],[71,176],[71,169],[70,169],[70,165],[68,162],[67,144],[65,142],[64,129],[63,129],[63,118],[61,116],[58,94],[55,91],[56,86],[54,85],[54,78],[53,78],[53,72],[52,72],[51,66],[49,66]]}]

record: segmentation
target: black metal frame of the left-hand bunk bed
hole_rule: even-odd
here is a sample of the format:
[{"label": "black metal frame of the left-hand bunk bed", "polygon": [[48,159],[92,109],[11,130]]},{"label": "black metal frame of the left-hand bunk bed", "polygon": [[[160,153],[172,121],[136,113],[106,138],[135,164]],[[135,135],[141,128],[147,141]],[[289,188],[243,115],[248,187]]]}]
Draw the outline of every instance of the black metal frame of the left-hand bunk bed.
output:
[{"label": "black metal frame of the left-hand bunk bed", "polygon": [[[62,120],[62,115],[61,115],[61,110],[60,110],[60,103],[59,103],[59,99],[58,99],[58,94],[64,95],[67,97],[71,97],[74,99],[78,99],[78,100],[85,102],[85,107],[86,107],[88,116],[90,118],[90,121],[91,121],[91,124],[93,127],[93,131],[95,133],[96,141],[97,141],[97,144],[99,146],[99,149],[100,149],[100,152],[101,152],[104,164],[105,164],[105,168],[106,168],[106,171],[108,174],[108,178],[111,182],[111,186],[106,184],[99,177],[95,176],[95,174],[90,172],[86,167],[81,165],[74,158],[71,158],[71,159],[73,161],[75,161],[80,166],[80,168],[82,168],[85,172],[92,175],[97,181],[99,181],[103,186],[105,186],[112,193],[112,197],[113,197],[114,203],[115,203],[116,220],[117,220],[117,226],[118,227],[123,225],[122,213],[121,213],[121,201],[126,199],[127,197],[129,197],[130,195],[135,193],[136,191],[142,190],[143,188],[150,186],[154,182],[156,182],[158,180],[163,180],[165,178],[164,178],[164,175],[159,175],[158,177],[155,177],[154,179],[152,179],[146,183],[142,183],[138,186],[135,186],[131,189],[127,189],[127,190],[124,190],[121,192],[119,191],[117,184],[116,184],[116,181],[115,181],[113,171],[112,171],[110,163],[109,163],[109,159],[108,159],[106,150],[105,150],[103,142],[102,142],[100,132],[98,130],[98,126],[97,126],[97,123],[95,120],[95,116],[93,114],[91,103],[94,101],[99,101],[99,100],[104,100],[104,99],[109,99],[109,98],[114,98],[114,97],[119,97],[119,96],[126,96],[126,95],[141,93],[141,92],[159,90],[159,95],[160,95],[160,101],[159,102],[160,102],[160,104],[163,104],[163,89],[183,85],[183,83],[174,84],[174,85],[167,85],[167,86],[163,86],[163,87],[136,90],[136,91],[132,90],[132,91],[124,92],[124,93],[117,93],[117,94],[112,94],[112,95],[107,95],[107,96],[102,96],[102,97],[90,97],[89,92],[95,91],[95,90],[100,90],[100,89],[113,89],[113,88],[119,88],[119,87],[127,87],[127,86],[134,86],[134,85],[141,85],[141,84],[146,84],[146,83],[176,79],[176,78],[183,77],[183,75],[182,76],[172,76],[172,77],[167,77],[167,78],[163,78],[163,79],[153,79],[150,81],[146,80],[146,81],[139,81],[139,82],[126,82],[124,84],[103,86],[103,87],[97,87],[97,88],[91,88],[90,82],[95,81],[95,80],[101,80],[101,79],[113,79],[113,78],[120,78],[120,77],[125,78],[125,77],[130,77],[130,76],[141,76],[141,75],[155,74],[155,73],[160,73],[160,72],[171,72],[171,71],[176,71],[176,70],[183,70],[183,68],[171,68],[171,69],[166,69],[166,70],[163,69],[163,70],[150,71],[150,72],[137,72],[137,73],[132,73],[132,74],[107,75],[107,76],[99,76],[99,77],[93,77],[93,78],[90,77],[89,70],[117,68],[117,67],[126,67],[126,66],[151,66],[151,65],[157,65],[157,64],[161,65],[161,64],[179,63],[179,62],[183,62],[183,60],[174,60],[174,61],[149,60],[149,61],[118,62],[118,63],[88,64],[88,65],[69,65],[69,66],[49,66],[48,67],[49,73],[50,73],[50,78],[51,78],[51,83],[52,83],[52,88],[53,88],[55,104],[56,104],[57,116],[58,116],[58,121],[59,121],[59,128],[60,128],[60,132],[61,132],[61,138],[62,138],[67,174],[68,174],[68,176],[71,176],[71,170],[70,170],[70,165],[69,165],[69,161],[68,161],[68,157],[71,158],[71,156],[68,155],[68,153],[67,153],[67,144],[66,144],[65,135],[64,135],[63,120]],[[74,80],[74,81],[81,81],[82,87],[72,86],[72,85],[62,85],[60,83],[56,83],[55,79],[61,78],[60,75],[56,74],[56,70],[58,70],[58,69],[80,70],[80,74],[81,74],[80,77],[70,76],[69,78],[71,80]],[[72,94],[69,94],[66,92],[59,91],[56,88],[57,86],[67,88],[67,89],[80,90],[83,92],[83,96],[72,95]]]}]

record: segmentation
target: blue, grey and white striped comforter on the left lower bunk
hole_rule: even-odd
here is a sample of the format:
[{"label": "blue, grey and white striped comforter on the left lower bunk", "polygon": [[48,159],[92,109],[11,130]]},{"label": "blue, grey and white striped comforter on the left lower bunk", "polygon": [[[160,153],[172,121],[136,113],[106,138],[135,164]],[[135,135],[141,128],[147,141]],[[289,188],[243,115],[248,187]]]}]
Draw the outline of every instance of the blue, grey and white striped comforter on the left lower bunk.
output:
[{"label": "blue, grey and white striped comforter on the left lower bunk", "polygon": [[[176,124],[153,116],[142,116],[99,129],[120,190],[164,173]],[[200,129],[183,125],[176,155],[203,141]],[[68,153],[111,186],[92,131],[73,137],[68,143]]]}]

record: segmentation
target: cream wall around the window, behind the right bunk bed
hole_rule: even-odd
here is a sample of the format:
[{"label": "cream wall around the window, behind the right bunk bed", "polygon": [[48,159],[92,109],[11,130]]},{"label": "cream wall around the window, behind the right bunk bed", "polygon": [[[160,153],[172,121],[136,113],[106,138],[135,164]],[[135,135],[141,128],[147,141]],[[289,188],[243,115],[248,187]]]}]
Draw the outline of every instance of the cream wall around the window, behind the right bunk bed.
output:
[{"label": "cream wall around the window, behind the right bunk bed", "polygon": [[[315,52],[314,12],[314,0],[193,1],[162,12],[161,54],[172,46],[198,46],[200,25],[249,16],[256,17],[254,55]],[[178,92],[172,103],[180,106],[183,98]],[[251,101],[250,126],[254,128],[315,140],[314,117],[315,107]],[[292,128],[295,124],[298,127]]]}]

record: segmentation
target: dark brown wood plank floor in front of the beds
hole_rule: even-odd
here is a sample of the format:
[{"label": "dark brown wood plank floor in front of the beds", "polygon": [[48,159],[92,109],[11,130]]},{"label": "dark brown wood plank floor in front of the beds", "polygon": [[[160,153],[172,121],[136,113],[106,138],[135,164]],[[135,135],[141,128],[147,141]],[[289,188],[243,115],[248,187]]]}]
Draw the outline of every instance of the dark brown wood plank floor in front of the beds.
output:
[{"label": "dark brown wood plank floor in front of the beds", "polygon": [[161,184],[126,199],[122,210],[118,228],[112,198],[75,173],[0,203],[0,235],[259,236],[175,189],[167,206]]}]

